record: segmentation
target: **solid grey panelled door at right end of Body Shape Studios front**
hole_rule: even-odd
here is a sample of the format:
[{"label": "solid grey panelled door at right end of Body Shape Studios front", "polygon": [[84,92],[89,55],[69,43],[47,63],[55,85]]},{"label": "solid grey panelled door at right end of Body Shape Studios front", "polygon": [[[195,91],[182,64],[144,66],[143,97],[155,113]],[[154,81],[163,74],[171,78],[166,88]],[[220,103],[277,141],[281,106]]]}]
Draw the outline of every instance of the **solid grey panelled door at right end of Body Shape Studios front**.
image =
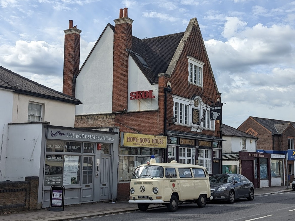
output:
[{"label": "solid grey panelled door at right end of Body Shape Studios front", "polygon": [[111,156],[101,156],[99,174],[99,200],[110,199]]}]

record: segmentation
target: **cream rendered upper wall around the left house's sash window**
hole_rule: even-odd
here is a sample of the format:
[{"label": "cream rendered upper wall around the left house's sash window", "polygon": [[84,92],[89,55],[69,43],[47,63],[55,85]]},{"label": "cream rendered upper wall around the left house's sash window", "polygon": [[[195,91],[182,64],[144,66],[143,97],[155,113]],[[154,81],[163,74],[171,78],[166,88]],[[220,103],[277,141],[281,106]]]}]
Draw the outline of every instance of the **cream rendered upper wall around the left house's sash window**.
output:
[{"label": "cream rendered upper wall around the left house's sash window", "polygon": [[14,93],[12,123],[28,122],[29,101],[43,105],[42,121],[50,125],[74,127],[75,104]]}]

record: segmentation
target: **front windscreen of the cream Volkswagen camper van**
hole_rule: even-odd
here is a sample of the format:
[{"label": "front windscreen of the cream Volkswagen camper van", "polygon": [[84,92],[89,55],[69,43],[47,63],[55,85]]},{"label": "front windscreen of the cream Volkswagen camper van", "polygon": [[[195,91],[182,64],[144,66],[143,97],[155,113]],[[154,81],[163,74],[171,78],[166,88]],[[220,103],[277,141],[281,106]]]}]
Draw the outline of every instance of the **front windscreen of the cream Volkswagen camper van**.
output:
[{"label": "front windscreen of the cream Volkswagen camper van", "polygon": [[134,178],[162,178],[164,177],[164,169],[162,166],[139,166],[135,169],[132,176]]}]

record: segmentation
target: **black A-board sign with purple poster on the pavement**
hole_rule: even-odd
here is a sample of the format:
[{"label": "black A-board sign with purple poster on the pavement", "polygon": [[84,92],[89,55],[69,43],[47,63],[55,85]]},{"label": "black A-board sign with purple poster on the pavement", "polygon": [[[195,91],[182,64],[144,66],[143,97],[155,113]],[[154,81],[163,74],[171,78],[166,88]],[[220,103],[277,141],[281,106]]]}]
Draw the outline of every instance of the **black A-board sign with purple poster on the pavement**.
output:
[{"label": "black A-board sign with purple poster on the pavement", "polygon": [[65,187],[51,186],[49,211],[64,211]]}]

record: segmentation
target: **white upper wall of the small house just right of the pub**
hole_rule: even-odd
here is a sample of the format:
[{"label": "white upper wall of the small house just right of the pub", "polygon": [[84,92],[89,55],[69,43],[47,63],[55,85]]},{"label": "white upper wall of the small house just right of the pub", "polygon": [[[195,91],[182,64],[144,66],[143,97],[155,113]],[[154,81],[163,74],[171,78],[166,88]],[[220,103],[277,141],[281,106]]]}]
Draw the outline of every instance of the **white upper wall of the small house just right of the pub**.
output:
[{"label": "white upper wall of the small house just right of the pub", "polygon": [[[222,153],[230,154],[231,152],[247,151],[256,152],[255,139],[246,138],[246,150],[241,150],[241,137],[223,136]],[[250,142],[252,140],[252,143]]]}]

